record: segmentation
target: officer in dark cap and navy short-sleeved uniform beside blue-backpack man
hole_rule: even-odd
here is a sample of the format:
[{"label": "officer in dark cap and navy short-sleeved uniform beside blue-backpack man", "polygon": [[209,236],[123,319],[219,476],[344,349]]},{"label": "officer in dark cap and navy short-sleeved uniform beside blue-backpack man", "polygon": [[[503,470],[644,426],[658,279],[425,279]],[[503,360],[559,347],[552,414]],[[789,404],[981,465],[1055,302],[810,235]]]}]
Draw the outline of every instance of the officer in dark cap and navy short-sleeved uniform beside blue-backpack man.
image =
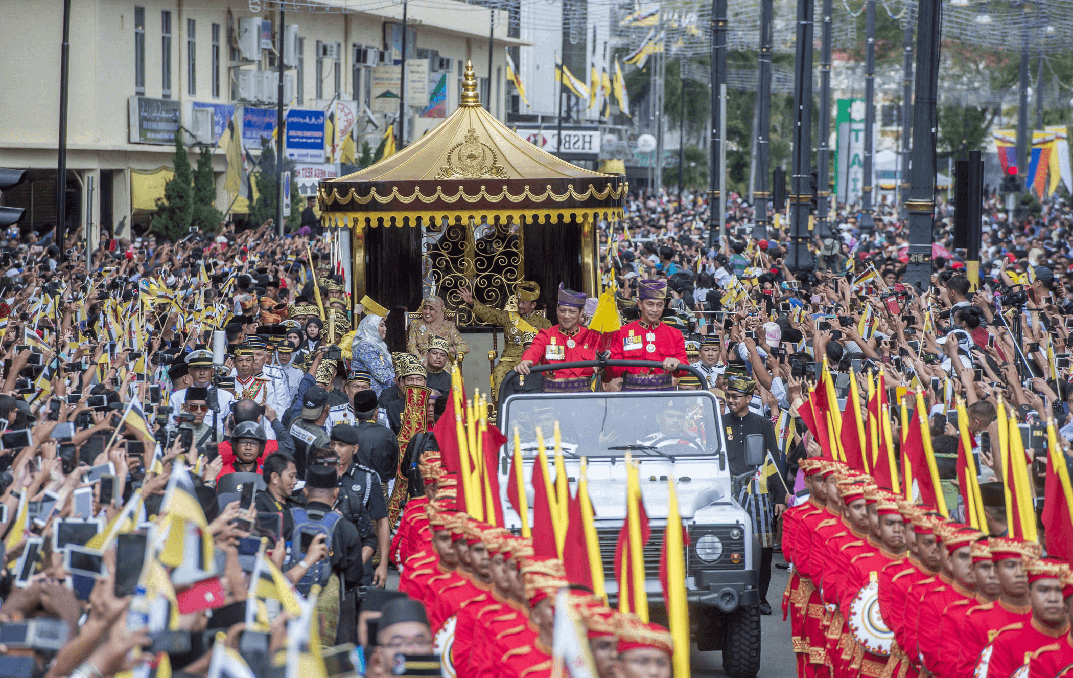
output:
[{"label": "officer in dark cap and navy short-sleeved uniform beside blue-backpack man", "polygon": [[[362,537],[367,537],[363,523],[374,524],[372,536],[380,550],[380,565],[372,568],[371,546],[363,547],[362,559],[366,563],[366,578],[363,583],[383,587],[387,582],[386,553],[391,546],[391,528],[387,524],[387,501],[380,487],[380,475],[364,464],[358,456],[361,436],[357,429],[349,423],[332,427],[332,451],[338,461],[339,502],[336,505],[342,515],[357,525]],[[371,526],[371,525],[370,525]]]}]

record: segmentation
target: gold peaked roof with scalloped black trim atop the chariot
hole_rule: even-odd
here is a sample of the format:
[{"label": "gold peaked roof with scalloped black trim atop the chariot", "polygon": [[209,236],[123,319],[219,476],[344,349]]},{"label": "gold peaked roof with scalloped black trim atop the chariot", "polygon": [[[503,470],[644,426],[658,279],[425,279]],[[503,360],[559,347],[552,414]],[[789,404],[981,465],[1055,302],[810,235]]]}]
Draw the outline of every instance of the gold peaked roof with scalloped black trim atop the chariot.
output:
[{"label": "gold peaked roof with scalloped black trim atop the chariot", "polygon": [[585,170],[541,150],[484,110],[476,90],[467,63],[461,103],[446,119],[373,165],[321,182],[322,219],[386,226],[394,218],[401,226],[418,216],[621,216],[624,176]]}]

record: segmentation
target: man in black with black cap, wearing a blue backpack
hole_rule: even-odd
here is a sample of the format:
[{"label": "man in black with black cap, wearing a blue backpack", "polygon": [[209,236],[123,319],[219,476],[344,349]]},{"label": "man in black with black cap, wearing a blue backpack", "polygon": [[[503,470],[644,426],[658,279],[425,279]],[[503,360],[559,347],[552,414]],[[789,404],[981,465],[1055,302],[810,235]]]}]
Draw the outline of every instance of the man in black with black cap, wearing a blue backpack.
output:
[{"label": "man in black with black cap, wearing a blue backpack", "polygon": [[[341,494],[339,475],[335,466],[313,463],[306,470],[306,514],[309,520],[330,513]],[[336,644],[357,643],[357,588],[365,574],[362,563],[363,543],[357,528],[350,520],[337,520],[332,529],[332,546],[328,562],[332,573],[339,577],[339,625],[336,626]],[[292,543],[291,548],[295,548]],[[304,561],[297,563],[303,566]],[[305,573],[300,573],[305,574]]]}]

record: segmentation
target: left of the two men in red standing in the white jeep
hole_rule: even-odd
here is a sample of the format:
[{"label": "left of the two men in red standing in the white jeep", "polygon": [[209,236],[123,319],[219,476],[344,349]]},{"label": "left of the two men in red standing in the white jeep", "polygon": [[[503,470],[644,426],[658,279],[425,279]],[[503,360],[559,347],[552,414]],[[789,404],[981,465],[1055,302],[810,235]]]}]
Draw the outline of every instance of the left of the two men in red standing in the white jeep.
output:
[{"label": "left of the two men in red standing in the white jeep", "polygon": [[[585,299],[585,294],[569,290],[559,284],[559,299],[556,305],[559,324],[541,330],[536,334],[529,348],[521,354],[521,360],[514,365],[515,372],[529,374],[529,367],[534,364],[554,365],[597,359],[600,333],[582,327]],[[545,372],[544,390],[556,393],[587,391],[593,374],[596,374],[594,367]]]}]

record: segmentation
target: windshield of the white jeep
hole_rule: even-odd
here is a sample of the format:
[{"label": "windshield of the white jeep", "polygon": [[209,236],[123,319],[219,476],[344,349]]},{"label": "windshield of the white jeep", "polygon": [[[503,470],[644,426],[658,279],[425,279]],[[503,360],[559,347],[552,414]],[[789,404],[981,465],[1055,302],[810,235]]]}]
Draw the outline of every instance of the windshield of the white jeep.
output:
[{"label": "windshield of the white jeep", "polygon": [[722,447],[717,407],[707,391],[512,395],[503,432],[513,441],[517,427],[526,457],[536,455],[538,428],[554,448],[556,421],[568,457],[707,457]]}]

